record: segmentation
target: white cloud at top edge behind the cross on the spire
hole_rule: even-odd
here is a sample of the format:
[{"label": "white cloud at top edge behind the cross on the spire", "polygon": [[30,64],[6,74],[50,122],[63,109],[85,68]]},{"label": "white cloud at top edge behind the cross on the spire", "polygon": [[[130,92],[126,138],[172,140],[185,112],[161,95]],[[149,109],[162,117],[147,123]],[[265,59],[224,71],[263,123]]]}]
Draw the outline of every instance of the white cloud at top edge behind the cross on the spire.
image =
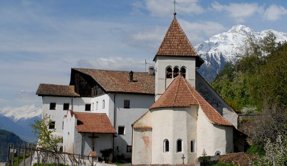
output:
[{"label": "white cloud at top edge behind the cross on the spire", "polygon": [[[176,12],[184,15],[201,14],[204,9],[198,4],[199,0],[178,0],[176,4]],[[172,0],[145,0],[145,3],[134,3],[135,11],[146,9],[152,16],[165,17],[171,15],[174,11]]]}]

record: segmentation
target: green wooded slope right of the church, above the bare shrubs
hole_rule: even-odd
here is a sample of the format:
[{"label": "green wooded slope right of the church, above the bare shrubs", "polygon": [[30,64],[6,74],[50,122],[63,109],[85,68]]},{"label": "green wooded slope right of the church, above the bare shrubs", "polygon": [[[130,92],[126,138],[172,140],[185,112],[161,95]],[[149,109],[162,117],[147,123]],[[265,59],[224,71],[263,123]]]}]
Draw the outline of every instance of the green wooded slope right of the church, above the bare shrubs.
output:
[{"label": "green wooded slope right of the church, above the bare shrubs", "polygon": [[237,62],[227,63],[211,84],[233,109],[287,106],[287,43],[275,40],[272,33],[261,40],[249,36]]}]

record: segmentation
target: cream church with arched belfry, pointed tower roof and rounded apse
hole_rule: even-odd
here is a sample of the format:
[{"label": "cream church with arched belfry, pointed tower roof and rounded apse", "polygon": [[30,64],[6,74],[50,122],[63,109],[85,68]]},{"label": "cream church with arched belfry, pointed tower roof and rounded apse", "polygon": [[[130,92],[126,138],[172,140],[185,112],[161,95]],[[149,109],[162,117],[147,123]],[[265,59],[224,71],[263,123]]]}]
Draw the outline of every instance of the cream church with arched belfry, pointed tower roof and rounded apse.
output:
[{"label": "cream church with arched belfry, pointed tower roof and rounded apse", "polygon": [[238,116],[196,72],[203,61],[175,16],[153,60],[155,103],[132,125],[132,164],[192,164],[203,153],[235,152]]}]

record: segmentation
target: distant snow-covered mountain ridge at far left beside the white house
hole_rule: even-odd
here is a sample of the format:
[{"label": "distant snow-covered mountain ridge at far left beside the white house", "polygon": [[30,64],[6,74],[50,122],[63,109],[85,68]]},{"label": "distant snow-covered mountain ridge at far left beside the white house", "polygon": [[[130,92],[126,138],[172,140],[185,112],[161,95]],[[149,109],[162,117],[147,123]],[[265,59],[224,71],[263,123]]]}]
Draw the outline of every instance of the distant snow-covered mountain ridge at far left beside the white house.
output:
[{"label": "distant snow-covered mountain ridge at far left beside the white house", "polygon": [[0,109],[0,114],[11,118],[13,121],[20,119],[31,119],[35,116],[41,116],[42,108],[37,108],[35,105],[28,105],[23,107],[5,107]]}]

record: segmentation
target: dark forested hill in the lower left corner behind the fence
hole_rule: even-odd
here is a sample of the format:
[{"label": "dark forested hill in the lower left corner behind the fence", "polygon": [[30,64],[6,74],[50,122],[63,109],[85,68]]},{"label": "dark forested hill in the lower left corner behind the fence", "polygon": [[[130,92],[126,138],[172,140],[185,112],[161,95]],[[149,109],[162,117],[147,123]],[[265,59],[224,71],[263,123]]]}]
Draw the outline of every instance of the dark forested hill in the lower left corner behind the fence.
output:
[{"label": "dark forested hill in the lower left corner behind the fence", "polygon": [[10,131],[0,130],[0,162],[6,161],[9,142],[20,145],[24,141]]}]

